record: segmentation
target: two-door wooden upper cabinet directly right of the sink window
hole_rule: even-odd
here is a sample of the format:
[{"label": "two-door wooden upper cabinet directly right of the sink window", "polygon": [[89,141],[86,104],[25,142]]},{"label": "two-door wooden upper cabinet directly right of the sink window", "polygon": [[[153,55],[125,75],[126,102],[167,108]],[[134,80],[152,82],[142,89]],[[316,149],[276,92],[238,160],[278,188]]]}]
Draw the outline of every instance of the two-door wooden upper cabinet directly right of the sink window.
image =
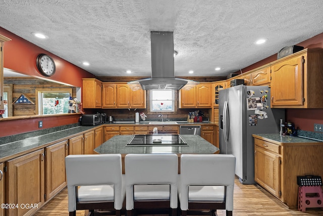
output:
[{"label": "two-door wooden upper cabinet directly right of the sink window", "polygon": [[190,89],[180,90],[180,108],[211,108],[212,84],[200,83]]}]

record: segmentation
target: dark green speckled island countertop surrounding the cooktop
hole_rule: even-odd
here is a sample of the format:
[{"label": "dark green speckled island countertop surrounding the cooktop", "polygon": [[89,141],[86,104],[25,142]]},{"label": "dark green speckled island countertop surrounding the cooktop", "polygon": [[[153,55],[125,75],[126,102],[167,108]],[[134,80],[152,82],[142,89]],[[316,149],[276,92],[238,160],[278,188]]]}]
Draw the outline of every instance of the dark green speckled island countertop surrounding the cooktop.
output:
[{"label": "dark green speckled island countertop surrounding the cooktop", "polygon": [[181,135],[189,146],[126,146],[133,135],[118,135],[94,149],[99,154],[213,154],[219,148],[197,135]]}]

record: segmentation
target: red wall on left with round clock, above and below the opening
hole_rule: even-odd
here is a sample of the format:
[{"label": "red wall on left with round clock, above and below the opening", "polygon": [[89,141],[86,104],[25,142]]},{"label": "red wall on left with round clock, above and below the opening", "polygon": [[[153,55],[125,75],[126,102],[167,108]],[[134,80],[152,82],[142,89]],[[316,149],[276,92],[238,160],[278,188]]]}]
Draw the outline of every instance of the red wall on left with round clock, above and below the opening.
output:
[{"label": "red wall on left with round clock, above and below the opening", "polygon": [[[4,67],[15,70],[17,72],[31,75],[34,77],[44,78],[36,66],[36,58],[38,54],[44,53],[50,55],[56,63],[56,72],[48,80],[59,81],[70,84],[75,87],[82,87],[82,78],[94,77],[91,73],[53,55],[31,42],[7,31],[0,27],[0,34],[9,37],[11,41],[5,42],[4,45]],[[0,137],[10,136],[14,134],[37,131],[38,121],[43,121],[44,128],[61,126],[66,124],[77,123],[79,115],[64,115],[53,117],[35,117],[17,120],[0,121]]]}]

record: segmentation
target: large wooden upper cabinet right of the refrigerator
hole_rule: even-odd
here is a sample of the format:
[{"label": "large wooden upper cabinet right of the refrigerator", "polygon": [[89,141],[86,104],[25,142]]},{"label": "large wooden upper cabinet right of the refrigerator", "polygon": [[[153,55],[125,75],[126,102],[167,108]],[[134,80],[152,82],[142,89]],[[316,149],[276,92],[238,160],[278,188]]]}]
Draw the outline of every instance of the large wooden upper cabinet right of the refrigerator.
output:
[{"label": "large wooden upper cabinet right of the refrigerator", "polygon": [[323,50],[305,49],[273,62],[273,108],[323,108]]}]

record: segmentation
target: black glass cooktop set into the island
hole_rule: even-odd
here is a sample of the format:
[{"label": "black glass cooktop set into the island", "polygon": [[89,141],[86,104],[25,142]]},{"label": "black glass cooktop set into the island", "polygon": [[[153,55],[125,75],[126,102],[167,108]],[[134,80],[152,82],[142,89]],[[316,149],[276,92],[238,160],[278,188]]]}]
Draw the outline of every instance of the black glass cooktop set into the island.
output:
[{"label": "black glass cooktop set into the island", "polygon": [[127,146],[188,146],[181,135],[134,135]]}]

